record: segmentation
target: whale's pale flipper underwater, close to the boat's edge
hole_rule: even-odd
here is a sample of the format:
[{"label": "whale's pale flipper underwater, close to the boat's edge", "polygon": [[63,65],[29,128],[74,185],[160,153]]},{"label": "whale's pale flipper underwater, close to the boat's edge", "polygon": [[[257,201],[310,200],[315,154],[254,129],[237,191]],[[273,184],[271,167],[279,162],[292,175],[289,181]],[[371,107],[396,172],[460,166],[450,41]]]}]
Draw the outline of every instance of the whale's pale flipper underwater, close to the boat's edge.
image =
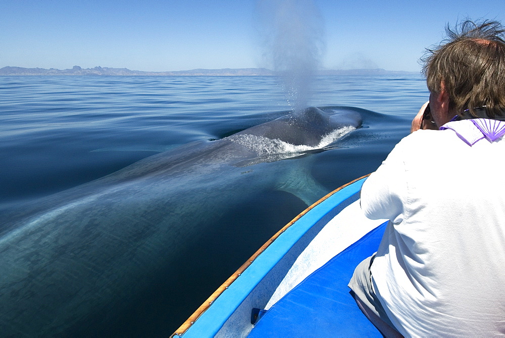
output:
[{"label": "whale's pale flipper underwater, close to the boat's edge", "polygon": [[310,207],[314,202],[330,191],[317,182],[304,167],[294,166],[286,175],[282,176],[276,190],[289,192]]}]

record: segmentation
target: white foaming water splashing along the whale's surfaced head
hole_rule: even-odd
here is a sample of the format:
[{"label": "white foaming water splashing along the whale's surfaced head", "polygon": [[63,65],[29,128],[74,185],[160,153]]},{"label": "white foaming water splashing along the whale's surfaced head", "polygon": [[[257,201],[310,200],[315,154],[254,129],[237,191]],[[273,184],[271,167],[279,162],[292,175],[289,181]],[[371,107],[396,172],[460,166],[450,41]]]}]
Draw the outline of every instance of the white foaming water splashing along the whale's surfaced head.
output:
[{"label": "white foaming water splashing along the whale's surfaced head", "polygon": [[280,160],[300,156],[311,150],[322,149],[355,129],[352,126],[335,129],[323,136],[321,142],[315,147],[306,145],[295,146],[279,139],[269,139],[249,134],[232,135],[227,137],[226,140],[244,146],[248,150],[258,154],[259,157],[272,157],[272,159],[275,157],[277,160]]}]

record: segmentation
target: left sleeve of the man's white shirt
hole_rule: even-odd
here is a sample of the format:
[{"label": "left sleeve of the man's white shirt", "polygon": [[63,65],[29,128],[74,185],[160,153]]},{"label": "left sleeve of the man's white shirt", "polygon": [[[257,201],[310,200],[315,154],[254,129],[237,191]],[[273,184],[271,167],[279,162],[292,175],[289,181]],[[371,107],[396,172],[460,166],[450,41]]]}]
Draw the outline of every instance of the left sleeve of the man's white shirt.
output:
[{"label": "left sleeve of the man's white shirt", "polygon": [[400,141],[363,184],[361,208],[369,219],[388,219],[394,224],[403,221],[403,200],[407,193],[403,148]]}]

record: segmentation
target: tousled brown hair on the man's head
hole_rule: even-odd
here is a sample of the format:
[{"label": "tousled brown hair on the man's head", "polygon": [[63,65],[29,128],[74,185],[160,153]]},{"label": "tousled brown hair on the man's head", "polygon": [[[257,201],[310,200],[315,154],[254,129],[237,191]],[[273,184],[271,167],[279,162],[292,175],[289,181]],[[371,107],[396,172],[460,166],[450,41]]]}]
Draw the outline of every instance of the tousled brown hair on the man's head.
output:
[{"label": "tousled brown hair on the man's head", "polygon": [[[505,28],[496,21],[464,21],[421,59],[428,89],[449,96],[449,111],[463,116],[486,106],[490,118],[505,117]],[[464,117],[464,116],[463,116]]]}]

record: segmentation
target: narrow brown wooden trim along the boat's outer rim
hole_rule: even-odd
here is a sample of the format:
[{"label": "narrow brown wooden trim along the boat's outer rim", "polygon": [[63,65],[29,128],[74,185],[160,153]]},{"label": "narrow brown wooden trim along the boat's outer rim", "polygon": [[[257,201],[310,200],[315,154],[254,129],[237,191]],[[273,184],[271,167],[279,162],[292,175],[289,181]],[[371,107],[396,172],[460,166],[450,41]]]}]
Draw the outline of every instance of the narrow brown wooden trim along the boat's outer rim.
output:
[{"label": "narrow brown wooden trim along the boat's outer rim", "polygon": [[346,183],[338,188],[336,188],[335,190],[331,191],[330,193],[326,194],[325,196],[321,197],[318,201],[316,201],[313,205],[311,205],[310,207],[308,207],[307,209],[305,209],[304,211],[302,211],[300,214],[298,214],[298,216],[296,216],[295,218],[293,218],[293,220],[291,220],[291,222],[289,222],[288,224],[286,224],[284,227],[282,227],[279,231],[277,231],[277,233],[275,233],[275,235],[273,235],[265,244],[263,244],[249,259],[247,259],[247,261],[245,263],[243,263],[238,269],[237,271],[231,275],[216,291],[214,291],[214,293],[209,297],[207,298],[207,300],[201,304],[197,309],[196,311],[193,312],[193,314],[191,316],[189,316],[189,318],[170,336],[170,338],[174,337],[175,335],[183,335],[188,329],[189,327],[196,321],[196,319],[198,319],[198,317],[200,317],[213,303],[214,301],[226,290],[228,289],[228,287],[245,271],[245,269],[252,263],[254,262],[254,260],[263,252],[265,251],[265,249],[277,238],[280,236],[280,234],[282,234],[284,231],[286,231],[287,228],[289,228],[290,226],[292,226],[297,220],[299,220],[302,216],[304,216],[305,214],[307,214],[310,210],[312,210],[314,207],[316,207],[318,204],[320,204],[321,202],[323,202],[324,200],[326,200],[328,197],[330,197],[331,195],[333,195],[334,193],[342,190],[343,188],[345,188],[346,186],[352,184],[352,183],[355,183],[365,177],[368,177],[370,176],[370,174],[368,175],[365,175],[365,176],[362,176],[362,177],[359,177],[355,180],[352,180],[350,181],[349,183]]}]

